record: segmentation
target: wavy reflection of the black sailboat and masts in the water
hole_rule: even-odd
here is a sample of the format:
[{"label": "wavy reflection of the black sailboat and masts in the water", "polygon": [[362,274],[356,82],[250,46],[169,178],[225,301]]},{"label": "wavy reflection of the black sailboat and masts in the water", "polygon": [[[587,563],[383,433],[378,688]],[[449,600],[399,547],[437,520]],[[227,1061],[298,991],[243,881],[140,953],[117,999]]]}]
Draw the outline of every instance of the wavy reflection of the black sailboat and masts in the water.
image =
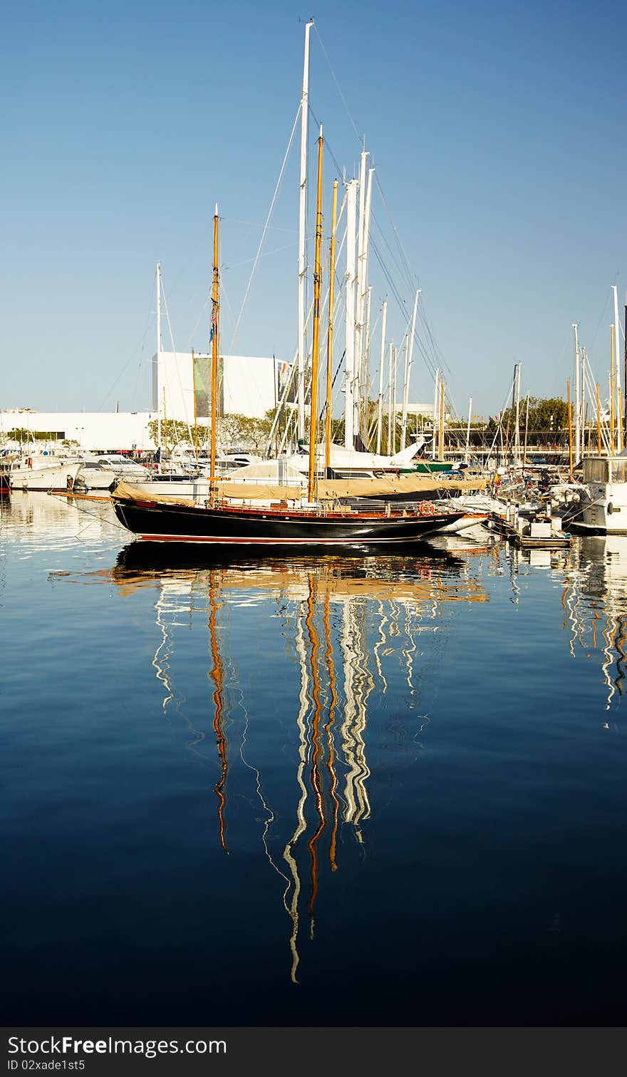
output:
[{"label": "wavy reflection of the black sailboat and masts in the water", "polygon": [[[198,557],[203,557],[198,567]],[[158,642],[152,659],[163,689],[163,710],[176,709],[185,718],[189,749],[207,759],[205,735],[196,728],[194,709],[183,705],[172,683],[175,626],[201,616],[208,630],[207,675],[211,684],[211,724],[218,781],[217,826],[220,844],[229,853],[229,771],[236,749],[237,715],[243,713],[238,756],[253,772],[263,807],[262,844],[273,870],[281,878],[282,903],[291,922],[290,976],[298,982],[299,939],[306,922],[315,936],[321,868],[342,867],[340,834],[364,843],[363,828],[371,817],[368,708],[388,691],[390,679],[402,677],[408,697],[416,696],[417,640],[421,632],[442,630],[443,606],[455,602],[486,602],[483,585],[464,578],[466,562],[447,550],[428,549],[407,557],[351,556],[281,558],[262,562],[229,557],[207,560],[205,551],[171,546],[152,549],[131,544],[117,558],[110,578],[126,598],[147,587],[154,602]],[[227,642],[229,611],[243,615],[260,603],[271,603],[264,623],[278,617],[282,646],[297,667],[293,696],[295,755],[292,779],[292,825],[282,842],[275,836],[277,815],[267,793],[263,766],[249,758],[254,684],[237,671],[237,646]],[[271,647],[264,641],[264,647]],[[267,660],[270,660],[266,652]],[[263,661],[263,654],[260,655]],[[296,687],[296,686],[295,686]],[[283,708],[284,710],[284,708]],[[187,713],[189,712],[189,713]],[[408,716],[407,721],[412,717]],[[268,716],[264,716],[268,721]],[[270,717],[271,722],[273,718]],[[424,728],[428,715],[418,718]],[[395,744],[410,742],[396,718],[390,730]],[[282,752],[287,754],[290,736]],[[282,812],[284,820],[285,813]]]}]

